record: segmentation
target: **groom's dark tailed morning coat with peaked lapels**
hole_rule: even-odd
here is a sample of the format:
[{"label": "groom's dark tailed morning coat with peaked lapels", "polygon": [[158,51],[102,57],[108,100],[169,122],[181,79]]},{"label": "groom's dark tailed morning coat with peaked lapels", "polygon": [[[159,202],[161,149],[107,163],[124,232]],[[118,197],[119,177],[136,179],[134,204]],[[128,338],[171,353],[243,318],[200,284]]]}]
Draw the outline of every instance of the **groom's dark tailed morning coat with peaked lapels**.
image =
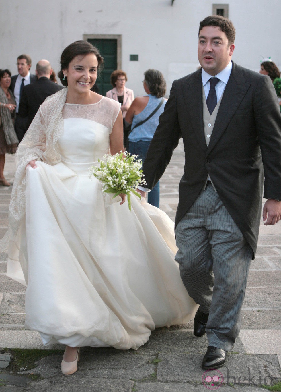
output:
[{"label": "groom's dark tailed morning coat with peaked lapels", "polygon": [[175,226],[209,173],[223,205],[256,252],[261,199],[281,200],[281,115],[268,76],[233,63],[209,147],[204,136],[201,69],[173,82],[143,171],[148,188],[164,173],[182,136],[184,175]]}]

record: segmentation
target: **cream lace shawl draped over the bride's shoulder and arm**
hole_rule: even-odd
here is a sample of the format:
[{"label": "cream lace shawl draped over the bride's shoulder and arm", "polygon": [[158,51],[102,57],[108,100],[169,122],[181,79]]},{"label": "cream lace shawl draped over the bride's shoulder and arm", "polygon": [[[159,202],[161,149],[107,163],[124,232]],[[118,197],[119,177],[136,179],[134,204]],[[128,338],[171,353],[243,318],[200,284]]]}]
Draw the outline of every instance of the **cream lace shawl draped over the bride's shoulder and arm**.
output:
[{"label": "cream lace shawl draped over the bride's shoulder and arm", "polygon": [[28,131],[16,151],[16,172],[9,206],[8,231],[0,240],[0,252],[16,235],[25,217],[25,167],[31,160],[41,160],[49,165],[60,162],[58,139],[63,132],[62,109],[68,89],[46,98],[34,117]]}]

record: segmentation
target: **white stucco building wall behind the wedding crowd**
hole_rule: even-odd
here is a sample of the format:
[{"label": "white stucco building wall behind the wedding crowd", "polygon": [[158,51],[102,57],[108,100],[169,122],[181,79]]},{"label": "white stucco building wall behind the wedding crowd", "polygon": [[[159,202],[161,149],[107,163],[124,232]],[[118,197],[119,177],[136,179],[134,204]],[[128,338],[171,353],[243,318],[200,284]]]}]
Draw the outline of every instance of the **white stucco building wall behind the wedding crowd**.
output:
[{"label": "white stucco building wall behind the wedding crowd", "polygon": [[[214,1],[214,3],[218,3]],[[281,67],[280,0],[229,0],[229,18],[236,27],[233,60],[259,70],[263,57]],[[36,62],[47,58],[56,73],[65,46],[83,34],[121,34],[122,69],[127,87],[143,94],[143,72],[162,71],[168,92],[175,78],[195,71],[200,20],[211,15],[209,0],[48,0],[2,1],[0,5],[1,68],[17,73],[16,58],[27,53]],[[130,61],[139,54],[139,61]]]}]

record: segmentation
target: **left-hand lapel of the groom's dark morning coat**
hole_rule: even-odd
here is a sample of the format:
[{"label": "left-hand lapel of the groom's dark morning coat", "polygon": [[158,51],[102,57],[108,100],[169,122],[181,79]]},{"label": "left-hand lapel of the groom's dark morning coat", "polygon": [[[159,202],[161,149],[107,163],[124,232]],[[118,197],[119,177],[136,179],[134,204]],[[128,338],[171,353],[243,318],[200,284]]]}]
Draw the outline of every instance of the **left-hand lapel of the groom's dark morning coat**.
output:
[{"label": "left-hand lapel of the groom's dark morning coat", "polygon": [[192,123],[193,132],[203,150],[207,150],[204,136],[201,69],[182,85],[185,110]]}]

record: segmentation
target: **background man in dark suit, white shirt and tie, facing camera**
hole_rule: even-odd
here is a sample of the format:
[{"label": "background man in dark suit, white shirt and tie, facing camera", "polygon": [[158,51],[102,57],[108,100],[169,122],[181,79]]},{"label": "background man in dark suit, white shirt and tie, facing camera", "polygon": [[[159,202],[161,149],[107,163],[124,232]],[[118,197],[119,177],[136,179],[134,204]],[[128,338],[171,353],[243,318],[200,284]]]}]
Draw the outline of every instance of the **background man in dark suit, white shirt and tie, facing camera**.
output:
[{"label": "background man in dark suit, white shirt and tie, facing camera", "polygon": [[[23,86],[26,86],[30,83],[34,83],[37,78],[35,75],[32,75],[29,70],[31,67],[31,58],[28,54],[21,54],[17,59],[17,67],[18,67],[18,75],[14,75],[11,78],[11,90],[16,99],[16,113],[18,113],[18,107],[20,104],[20,95],[22,93]],[[14,129],[18,136],[18,140],[21,141],[23,135],[25,133],[25,124],[27,118],[21,118],[16,116],[16,120],[14,122]]]}]

